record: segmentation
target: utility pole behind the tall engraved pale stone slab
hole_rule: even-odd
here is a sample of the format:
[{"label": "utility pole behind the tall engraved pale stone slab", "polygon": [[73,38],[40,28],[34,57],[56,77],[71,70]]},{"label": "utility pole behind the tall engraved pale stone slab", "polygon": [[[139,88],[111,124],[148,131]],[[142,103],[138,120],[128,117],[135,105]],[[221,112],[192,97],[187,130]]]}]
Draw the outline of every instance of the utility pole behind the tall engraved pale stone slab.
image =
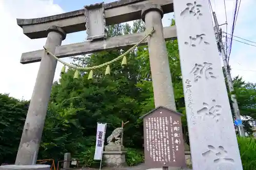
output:
[{"label": "utility pole behind the tall engraved pale stone slab", "polygon": [[[225,52],[224,45],[222,42],[222,36],[221,36],[221,32],[220,32],[219,23],[217,21],[216,13],[212,12],[212,14],[214,15],[215,29],[217,32],[217,40],[218,40],[218,48],[222,54],[222,59],[223,59],[224,68],[225,68],[225,74],[226,74],[226,78],[227,78],[227,84],[228,84],[229,92],[231,93],[231,101],[232,101],[234,116],[236,117],[236,120],[241,120],[236,94],[233,94],[233,91],[234,91],[233,82],[232,82],[232,78],[230,75],[230,69],[228,68],[227,54]],[[243,124],[241,126],[238,126],[238,132],[239,132],[240,136],[245,136]]]}]

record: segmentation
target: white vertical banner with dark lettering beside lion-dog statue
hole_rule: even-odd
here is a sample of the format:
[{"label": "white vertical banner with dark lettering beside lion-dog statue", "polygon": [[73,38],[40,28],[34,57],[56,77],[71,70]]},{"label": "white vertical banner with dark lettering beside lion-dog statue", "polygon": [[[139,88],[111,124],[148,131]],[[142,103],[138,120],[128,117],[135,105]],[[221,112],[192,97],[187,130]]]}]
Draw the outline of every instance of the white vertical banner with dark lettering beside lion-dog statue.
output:
[{"label": "white vertical banner with dark lettering beside lion-dog statue", "polygon": [[94,153],[94,160],[101,160],[104,148],[106,124],[97,123],[97,134],[96,134],[96,147]]}]

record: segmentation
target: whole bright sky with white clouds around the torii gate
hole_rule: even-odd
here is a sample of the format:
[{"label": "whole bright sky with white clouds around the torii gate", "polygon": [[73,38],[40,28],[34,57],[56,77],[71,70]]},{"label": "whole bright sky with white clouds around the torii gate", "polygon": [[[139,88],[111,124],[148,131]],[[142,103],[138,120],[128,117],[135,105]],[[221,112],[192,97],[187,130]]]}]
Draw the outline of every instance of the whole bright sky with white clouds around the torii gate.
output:
[{"label": "whole bright sky with white clouds around the torii gate", "polygon": [[[102,0],[101,0],[102,1]],[[17,26],[16,18],[37,18],[60,14],[64,12],[82,9],[84,5],[100,3],[100,0],[1,0],[0,1],[0,27],[2,43],[0,45],[0,93],[9,93],[17,99],[30,100],[39,62],[31,64],[20,64],[22,53],[40,50],[45,45],[46,38],[31,40],[23,34],[22,28]],[[191,1],[191,0],[187,0]],[[225,0],[227,11],[226,26],[221,26],[222,30],[230,33],[232,25],[232,15],[235,0]],[[111,0],[104,3],[114,2]],[[224,0],[211,0],[212,9],[217,14],[219,24],[226,22]],[[255,0],[242,0],[237,19],[234,35],[256,42],[256,15]],[[174,13],[165,14],[162,22],[163,26],[169,26],[168,19],[173,18]],[[82,42],[86,38],[86,32],[68,34],[62,45]],[[234,39],[246,42],[234,37]],[[232,68],[231,75],[242,76],[246,82],[256,83],[256,58],[254,57],[256,46],[251,46],[234,40],[229,64]],[[253,44],[252,42],[249,42]],[[256,43],[254,43],[256,45]],[[70,61],[68,58],[63,59]],[[57,64],[54,80],[59,79],[62,65]]]}]

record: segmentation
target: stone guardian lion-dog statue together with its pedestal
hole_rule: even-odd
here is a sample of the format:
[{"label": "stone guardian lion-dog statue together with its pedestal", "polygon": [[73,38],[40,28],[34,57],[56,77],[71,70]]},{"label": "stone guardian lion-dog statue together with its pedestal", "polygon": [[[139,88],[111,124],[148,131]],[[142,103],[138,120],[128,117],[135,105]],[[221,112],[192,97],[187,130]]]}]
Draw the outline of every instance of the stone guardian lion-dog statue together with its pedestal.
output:
[{"label": "stone guardian lion-dog statue together with its pedestal", "polygon": [[122,144],[123,128],[116,128],[106,139],[108,145],[103,151],[103,160],[107,167],[124,167],[127,166],[125,161],[126,151]]}]

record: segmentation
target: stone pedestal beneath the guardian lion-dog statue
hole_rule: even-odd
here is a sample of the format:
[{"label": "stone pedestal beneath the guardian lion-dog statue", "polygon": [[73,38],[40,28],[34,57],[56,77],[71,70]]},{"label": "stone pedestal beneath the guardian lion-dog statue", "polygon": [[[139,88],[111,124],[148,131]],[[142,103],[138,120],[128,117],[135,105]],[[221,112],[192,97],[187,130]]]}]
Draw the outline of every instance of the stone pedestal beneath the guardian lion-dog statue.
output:
[{"label": "stone pedestal beneath the guardian lion-dog statue", "polygon": [[106,167],[125,167],[127,163],[125,161],[126,151],[104,151],[103,160]]}]

